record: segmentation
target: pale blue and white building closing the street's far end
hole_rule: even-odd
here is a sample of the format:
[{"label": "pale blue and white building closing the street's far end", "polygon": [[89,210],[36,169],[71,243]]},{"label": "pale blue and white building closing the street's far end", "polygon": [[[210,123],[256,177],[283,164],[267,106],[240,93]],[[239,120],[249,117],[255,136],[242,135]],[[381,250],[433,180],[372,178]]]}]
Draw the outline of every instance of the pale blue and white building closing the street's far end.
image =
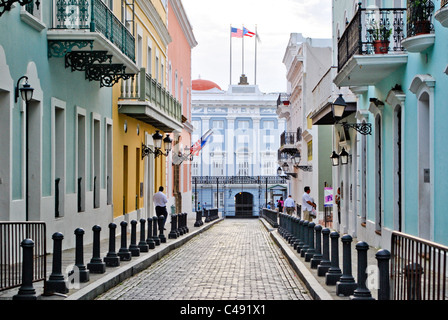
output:
[{"label": "pale blue and white building closing the street's far end", "polygon": [[195,142],[208,130],[210,141],[192,161],[194,208],[218,208],[226,216],[258,216],[268,202],[285,198],[277,176],[280,133],[278,93],[262,93],[244,76],[228,90],[208,80],[193,80],[192,124]]}]

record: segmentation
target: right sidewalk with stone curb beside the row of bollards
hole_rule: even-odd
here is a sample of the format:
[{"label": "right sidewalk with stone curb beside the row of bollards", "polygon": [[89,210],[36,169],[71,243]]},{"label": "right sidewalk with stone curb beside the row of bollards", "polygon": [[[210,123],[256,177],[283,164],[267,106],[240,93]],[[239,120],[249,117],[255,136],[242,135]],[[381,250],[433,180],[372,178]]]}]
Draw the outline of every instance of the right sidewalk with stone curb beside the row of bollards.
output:
[{"label": "right sidewalk with stone curb beside the row of bollards", "polygon": [[[277,228],[273,228],[266,220],[260,219],[264,223],[266,229],[270,232],[273,241],[281,248],[283,254],[289,260],[292,268],[297,272],[297,275],[305,283],[306,287],[310,291],[310,294],[316,300],[350,300],[350,297],[338,296],[336,294],[336,286],[329,286],[325,284],[325,277],[318,276],[317,269],[312,269],[310,262],[306,262],[305,258],[301,257],[294,247],[291,246],[278,232]],[[339,239],[340,240],[340,239]],[[355,248],[358,240],[353,239],[351,243],[351,256],[352,256],[352,276],[355,281],[358,278],[357,271],[357,250]],[[367,251],[367,265],[377,266],[377,260],[375,254],[378,249],[370,247]],[[342,265],[342,243],[339,241],[339,268],[343,271]],[[330,245],[330,258],[331,258],[331,245]],[[370,290],[372,297],[377,299],[377,290]]]}]

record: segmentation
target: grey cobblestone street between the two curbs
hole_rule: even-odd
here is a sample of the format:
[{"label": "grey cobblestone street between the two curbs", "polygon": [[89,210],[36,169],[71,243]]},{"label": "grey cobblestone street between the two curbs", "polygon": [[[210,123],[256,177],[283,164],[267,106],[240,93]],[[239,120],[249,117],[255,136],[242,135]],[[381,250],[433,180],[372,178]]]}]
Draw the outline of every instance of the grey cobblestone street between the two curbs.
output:
[{"label": "grey cobblestone street between the two curbs", "polygon": [[311,300],[259,219],[225,219],[98,300]]}]

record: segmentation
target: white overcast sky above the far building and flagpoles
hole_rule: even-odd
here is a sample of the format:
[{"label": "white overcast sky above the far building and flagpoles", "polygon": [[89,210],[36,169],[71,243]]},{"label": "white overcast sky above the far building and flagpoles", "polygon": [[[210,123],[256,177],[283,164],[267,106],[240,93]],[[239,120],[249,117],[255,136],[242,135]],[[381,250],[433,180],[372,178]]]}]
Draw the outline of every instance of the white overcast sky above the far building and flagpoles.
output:
[{"label": "white overcast sky above the far building and flagpoles", "polygon": [[[242,39],[230,26],[257,33],[256,83],[262,92],[286,91],[283,57],[291,33],[331,38],[331,0],[182,0],[198,45],[192,51],[192,79],[211,80],[221,89],[239,82]],[[230,50],[232,39],[232,50]],[[232,64],[230,64],[230,57]],[[244,73],[255,81],[255,38],[244,37]]]}]

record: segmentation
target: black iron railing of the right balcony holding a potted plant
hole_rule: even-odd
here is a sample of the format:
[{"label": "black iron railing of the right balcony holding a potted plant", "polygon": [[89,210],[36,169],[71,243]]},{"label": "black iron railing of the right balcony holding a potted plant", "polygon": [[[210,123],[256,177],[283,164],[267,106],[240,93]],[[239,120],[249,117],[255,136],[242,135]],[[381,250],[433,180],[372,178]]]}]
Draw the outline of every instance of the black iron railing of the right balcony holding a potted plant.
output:
[{"label": "black iron railing of the right balcony holding a potted plant", "polygon": [[359,5],[353,19],[338,41],[338,72],[355,54],[375,54],[379,41],[379,52],[403,51],[404,14],[406,8],[366,9]]}]

